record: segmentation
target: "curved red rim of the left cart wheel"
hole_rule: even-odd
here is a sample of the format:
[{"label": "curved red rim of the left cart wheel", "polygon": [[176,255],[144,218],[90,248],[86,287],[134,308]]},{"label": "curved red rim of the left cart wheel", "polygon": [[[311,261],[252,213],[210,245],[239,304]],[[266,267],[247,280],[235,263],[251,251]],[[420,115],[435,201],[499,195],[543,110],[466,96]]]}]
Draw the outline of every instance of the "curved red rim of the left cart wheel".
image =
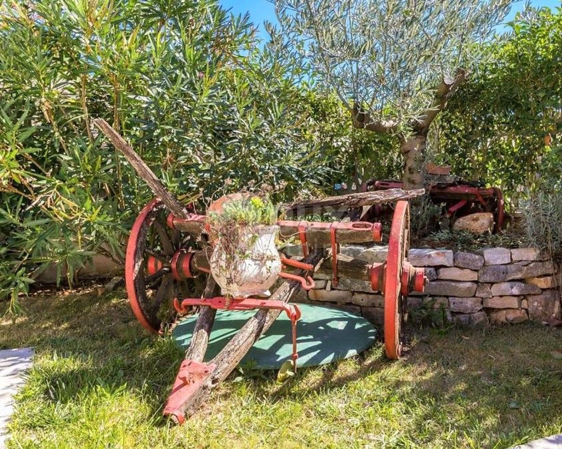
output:
[{"label": "curved red rim of the left cart wheel", "polygon": [[149,226],[147,223],[148,215],[154,210],[158,205],[160,205],[160,199],[154,199],[150,203],[148,203],[144,208],[140,211],[137,219],[133,223],[133,227],[131,228],[131,232],[129,234],[129,240],[127,242],[127,250],[125,253],[125,287],[127,290],[127,296],[129,297],[129,303],[131,304],[131,308],[133,309],[133,313],[137,320],[139,320],[140,324],[147,330],[149,330],[153,334],[157,334],[160,329],[155,329],[149,321],[146,315],[140,306],[140,300],[138,294],[140,292],[137,291],[137,286],[135,285],[135,279],[137,276],[142,276],[142,255],[137,253],[137,242],[142,237],[142,234],[146,234],[146,231],[143,232],[144,226]]}]

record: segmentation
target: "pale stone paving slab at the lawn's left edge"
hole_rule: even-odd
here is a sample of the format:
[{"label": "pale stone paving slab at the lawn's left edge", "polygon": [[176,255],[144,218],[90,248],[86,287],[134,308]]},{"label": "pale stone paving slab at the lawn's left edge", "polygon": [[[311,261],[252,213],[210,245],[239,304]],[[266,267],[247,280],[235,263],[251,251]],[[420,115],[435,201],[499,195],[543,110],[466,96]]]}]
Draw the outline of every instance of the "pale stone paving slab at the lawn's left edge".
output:
[{"label": "pale stone paving slab at the lawn's left edge", "polygon": [[8,437],[8,420],[13,411],[13,395],[25,384],[25,372],[31,367],[33,348],[0,351],[0,447]]}]

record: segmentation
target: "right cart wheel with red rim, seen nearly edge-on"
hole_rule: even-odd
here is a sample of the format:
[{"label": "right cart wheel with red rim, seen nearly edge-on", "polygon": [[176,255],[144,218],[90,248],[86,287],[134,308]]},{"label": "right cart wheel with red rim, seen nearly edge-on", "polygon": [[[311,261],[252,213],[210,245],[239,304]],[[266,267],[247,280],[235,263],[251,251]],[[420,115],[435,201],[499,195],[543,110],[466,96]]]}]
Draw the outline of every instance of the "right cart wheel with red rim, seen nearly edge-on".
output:
[{"label": "right cart wheel with red rim, seen nearly edge-on", "polygon": [[410,247],[410,204],[398,201],[388,239],[388,258],[384,276],[384,349],[388,358],[402,352],[403,298],[401,294],[402,265]]}]

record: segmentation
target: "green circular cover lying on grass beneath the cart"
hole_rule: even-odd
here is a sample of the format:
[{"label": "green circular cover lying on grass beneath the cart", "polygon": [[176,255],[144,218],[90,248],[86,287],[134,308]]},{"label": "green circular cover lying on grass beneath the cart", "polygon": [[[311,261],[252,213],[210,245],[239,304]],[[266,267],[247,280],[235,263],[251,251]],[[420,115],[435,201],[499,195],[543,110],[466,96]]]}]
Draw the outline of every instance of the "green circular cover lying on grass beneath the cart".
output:
[{"label": "green circular cover lying on grass beneath the cart", "polygon": [[[377,331],[365,320],[342,310],[299,304],[302,316],[297,322],[299,366],[315,366],[355,356],[374,344]],[[215,357],[256,311],[225,311],[216,313],[205,361]],[[193,333],[197,315],[181,320],[174,328],[176,344],[186,349]],[[292,354],[291,320],[284,312],[275,320],[243,358],[241,365],[256,369],[279,369]]]}]

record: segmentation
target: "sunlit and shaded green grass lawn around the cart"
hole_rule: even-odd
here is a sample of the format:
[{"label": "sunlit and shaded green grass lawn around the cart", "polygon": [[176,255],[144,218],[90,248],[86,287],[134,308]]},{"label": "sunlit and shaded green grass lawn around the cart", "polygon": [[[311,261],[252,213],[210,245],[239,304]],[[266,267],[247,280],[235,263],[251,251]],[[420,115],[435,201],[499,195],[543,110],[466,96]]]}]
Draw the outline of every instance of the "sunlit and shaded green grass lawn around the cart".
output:
[{"label": "sunlit and shaded green grass lawn around the cart", "polygon": [[234,372],[175,426],[161,408],[182,353],[125,297],[33,297],[0,320],[0,348],[37,353],[8,447],[505,448],[562,433],[562,333],[531,324],[411,330],[400,361],[378,344],[284,384]]}]

